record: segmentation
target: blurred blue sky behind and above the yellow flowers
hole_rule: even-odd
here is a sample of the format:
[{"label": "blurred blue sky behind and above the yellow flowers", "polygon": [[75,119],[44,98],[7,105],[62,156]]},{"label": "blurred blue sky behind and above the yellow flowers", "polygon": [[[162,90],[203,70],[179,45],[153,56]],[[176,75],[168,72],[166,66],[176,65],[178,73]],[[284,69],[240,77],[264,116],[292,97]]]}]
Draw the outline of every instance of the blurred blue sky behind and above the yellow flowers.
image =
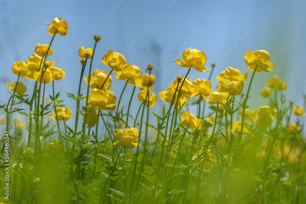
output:
[{"label": "blurred blue sky behind and above the yellow flowers", "polygon": [[[143,71],[148,63],[153,64],[155,69],[152,74],[156,76],[153,89],[155,95],[166,90],[176,76],[186,74],[188,68],[177,65],[173,59],[181,59],[183,51],[189,47],[206,53],[207,69],[210,69],[212,63],[216,64],[211,78],[212,91],[218,83],[216,76],[227,67],[240,69],[242,74],[248,72],[250,79],[252,72],[246,68],[245,52],[267,50],[275,66],[273,72],[255,75],[251,98],[248,100],[250,108],[268,105],[268,99],[260,97],[259,90],[265,87],[265,81],[273,75],[288,83],[285,95],[289,95],[295,105],[303,105],[303,93],[306,90],[305,6],[306,2],[303,0],[2,0],[2,104],[10,96],[6,80],[9,84],[17,81],[17,76],[11,69],[13,63],[26,61],[35,53],[37,43],[49,44],[52,36],[47,33],[46,23],[51,23],[55,17],[61,17],[68,21],[70,32],[66,36],[55,36],[51,46],[53,54],[48,57],[48,61],[55,61],[55,66],[66,72],[64,79],[55,82],[55,92],[61,92],[60,98],[65,100],[66,106],[73,113],[76,103],[65,92],[77,95],[81,72],[78,50],[81,46],[93,48],[93,35],[103,37],[96,48],[93,71],[103,69],[110,72],[110,68],[100,60],[108,50],[120,52],[125,56],[127,64],[137,65]],[[84,76],[88,76],[88,71],[89,65]],[[192,69],[189,77],[191,80],[207,80],[210,72]],[[125,81],[115,79],[114,72],[111,76],[111,91],[118,102]],[[34,81],[26,78],[21,81],[28,88],[25,94],[31,96]],[[248,83],[249,80],[244,86],[244,93]],[[52,93],[51,88],[52,84],[47,84],[47,94]],[[84,88],[86,83],[83,81],[82,89]],[[127,86],[121,105],[128,104],[132,89],[131,85]],[[151,111],[161,115],[161,108],[165,104],[159,98],[155,109]],[[139,105],[140,102],[134,95],[131,108],[136,112]],[[192,107],[190,103],[188,108],[196,115],[196,107]],[[67,121],[67,124],[73,126],[73,120]]]}]

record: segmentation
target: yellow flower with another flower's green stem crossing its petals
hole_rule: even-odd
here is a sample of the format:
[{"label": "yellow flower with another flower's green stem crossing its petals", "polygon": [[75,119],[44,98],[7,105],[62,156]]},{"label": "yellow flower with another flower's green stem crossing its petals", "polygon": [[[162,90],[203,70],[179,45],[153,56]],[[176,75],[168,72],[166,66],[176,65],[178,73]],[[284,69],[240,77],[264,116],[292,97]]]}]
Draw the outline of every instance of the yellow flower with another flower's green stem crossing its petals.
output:
[{"label": "yellow flower with another flower's green stem crossing its petals", "polygon": [[[101,89],[104,81],[106,80],[108,76],[108,73],[104,70],[95,70],[91,77],[90,77],[90,83],[89,83],[89,87],[91,89]],[[84,77],[84,81],[87,83],[88,85],[88,77]],[[104,92],[108,92],[110,91],[110,86],[112,85],[113,83],[113,80],[112,80],[112,77],[109,76],[108,79],[106,80],[106,83],[104,84],[104,86],[102,87],[102,90]]]}]

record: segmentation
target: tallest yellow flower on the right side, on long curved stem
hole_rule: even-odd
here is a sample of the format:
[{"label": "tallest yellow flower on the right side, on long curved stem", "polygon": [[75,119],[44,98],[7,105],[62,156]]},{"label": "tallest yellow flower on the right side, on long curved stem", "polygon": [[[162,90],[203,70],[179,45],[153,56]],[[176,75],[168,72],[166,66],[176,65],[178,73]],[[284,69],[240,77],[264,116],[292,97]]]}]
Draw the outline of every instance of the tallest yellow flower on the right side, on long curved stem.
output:
[{"label": "tallest yellow flower on the right side, on long curved stem", "polygon": [[256,72],[271,72],[274,64],[270,62],[270,54],[266,50],[257,50],[252,52],[248,50],[244,55],[244,61],[247,68],[254,72],[257,65]]}]

